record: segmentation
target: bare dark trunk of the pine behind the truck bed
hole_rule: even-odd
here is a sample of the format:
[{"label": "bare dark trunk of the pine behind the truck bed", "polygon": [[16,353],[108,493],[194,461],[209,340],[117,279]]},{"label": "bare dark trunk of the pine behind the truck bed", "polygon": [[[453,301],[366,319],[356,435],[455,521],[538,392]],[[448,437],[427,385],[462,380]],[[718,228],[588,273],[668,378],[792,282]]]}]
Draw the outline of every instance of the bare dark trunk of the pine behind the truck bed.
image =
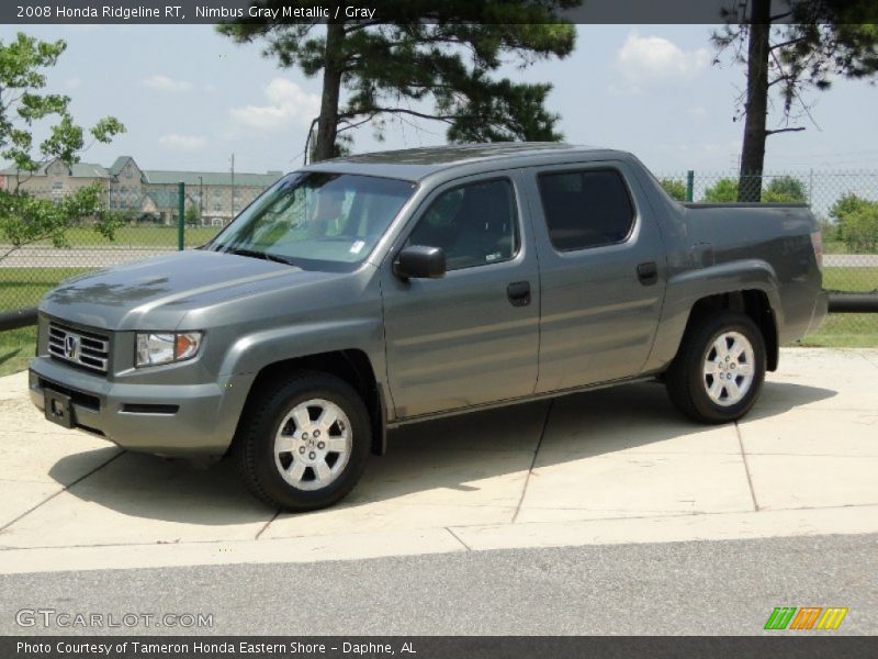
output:
[{"label": "bare dark trunk of the pine behind the truck bed", "polygon": [[772,0],[752,0],[747,43],[747,96],[744,144],[738,178],[738,201],[759,201],[765,164],[765,124],[768,121],[768,56]]}]

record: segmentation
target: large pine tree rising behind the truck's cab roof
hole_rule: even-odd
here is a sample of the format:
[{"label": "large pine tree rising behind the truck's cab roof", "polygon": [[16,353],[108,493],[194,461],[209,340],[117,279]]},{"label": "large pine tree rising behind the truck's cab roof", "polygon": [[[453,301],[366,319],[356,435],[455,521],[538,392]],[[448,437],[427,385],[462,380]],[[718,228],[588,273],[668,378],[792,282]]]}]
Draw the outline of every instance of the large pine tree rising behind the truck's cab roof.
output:
[{"label": "large pine tree rising behind the truck's cab roof", "polygon": [[[281,66],[322,76],[320,113],[312,124],[314,159],[322,160],[344,146],[339,137],[346,131],[371,123],[380,137],[389,118],[443,122],[452,142],[560,139],[559,115],[544,107],[551,85],[495,80],[491,74],[507,59],[524,68],[569,55],[576,33],[555,12],[581,2],[375,0],[370,7],[378,15],[398,22],[333,20],[318,27],[248,18],[218,30],[238,43],[262,40],[263,54]],[[312,4],[251,3],[262,9]]]}]

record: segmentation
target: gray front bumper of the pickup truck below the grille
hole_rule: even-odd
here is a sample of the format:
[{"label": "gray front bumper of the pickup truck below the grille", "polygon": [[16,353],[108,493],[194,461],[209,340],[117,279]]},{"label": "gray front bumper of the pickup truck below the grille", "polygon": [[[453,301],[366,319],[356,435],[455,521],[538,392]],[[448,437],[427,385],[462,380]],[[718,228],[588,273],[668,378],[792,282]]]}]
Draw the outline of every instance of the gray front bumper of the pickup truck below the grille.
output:
[{"label": "gray front bumper of the pickup truck below the grille", "polygon": [[207,384],[136,384],[106,380],[48,357],[31,361],[31,401],[45,390],[70,398],[72,426],[136,451],[169,457],[222,457],[235,435],[251,376]]}]

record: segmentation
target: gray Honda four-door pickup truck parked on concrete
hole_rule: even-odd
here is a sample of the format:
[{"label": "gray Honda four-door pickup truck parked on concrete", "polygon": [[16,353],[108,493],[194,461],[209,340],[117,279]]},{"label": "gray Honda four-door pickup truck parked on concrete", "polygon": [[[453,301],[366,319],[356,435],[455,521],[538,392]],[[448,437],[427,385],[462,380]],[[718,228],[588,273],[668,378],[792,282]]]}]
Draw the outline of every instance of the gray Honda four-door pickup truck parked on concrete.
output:
[{"label": "gray Honda four-door pickup truck parked on concrete", "polygon": [[290,174],[203,247],[40,305],[46,418],[234,457],[255,495],[330,505],[389,428],[634,380],[744,415],[823,320],[803,205],[680,204],[630,154],[495,144]]}]

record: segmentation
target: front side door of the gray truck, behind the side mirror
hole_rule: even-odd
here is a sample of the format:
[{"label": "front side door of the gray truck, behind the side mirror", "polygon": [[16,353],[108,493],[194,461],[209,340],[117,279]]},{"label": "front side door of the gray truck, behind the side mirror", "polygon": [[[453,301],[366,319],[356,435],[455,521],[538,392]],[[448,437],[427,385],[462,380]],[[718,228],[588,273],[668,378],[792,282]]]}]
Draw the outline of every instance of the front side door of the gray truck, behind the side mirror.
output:
[{"label": "front side door of the gray truck, behind the side mirror", "polygon": [[[396,416],[525,396],[537,383],[539,270],[508,174],[437,190],[405,245],[441,247],[441,279],[401,280],[383,264],[387,377]],[[526,292],[526,294],[525,294]]]}]

